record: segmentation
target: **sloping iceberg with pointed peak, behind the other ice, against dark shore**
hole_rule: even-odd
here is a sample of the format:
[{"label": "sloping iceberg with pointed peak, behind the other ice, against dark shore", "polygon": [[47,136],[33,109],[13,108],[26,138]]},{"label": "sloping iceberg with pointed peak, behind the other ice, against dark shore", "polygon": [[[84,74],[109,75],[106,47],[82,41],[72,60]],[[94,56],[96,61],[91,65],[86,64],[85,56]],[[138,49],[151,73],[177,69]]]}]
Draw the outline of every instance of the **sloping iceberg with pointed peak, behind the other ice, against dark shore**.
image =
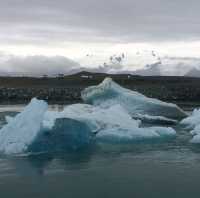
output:
[{"label": "sloping iceberg with pointed peak, behind the other ice, against dark shore", "polygon": [[177,105],[148,98],[136,91],[123,88],[111,78],[104,79],[97,86],[84,89],[81,96],[85,103],[102,108],[120,104],[131,116],[148,114],[149,116],[163,116],[172,119],[187,116]]}]

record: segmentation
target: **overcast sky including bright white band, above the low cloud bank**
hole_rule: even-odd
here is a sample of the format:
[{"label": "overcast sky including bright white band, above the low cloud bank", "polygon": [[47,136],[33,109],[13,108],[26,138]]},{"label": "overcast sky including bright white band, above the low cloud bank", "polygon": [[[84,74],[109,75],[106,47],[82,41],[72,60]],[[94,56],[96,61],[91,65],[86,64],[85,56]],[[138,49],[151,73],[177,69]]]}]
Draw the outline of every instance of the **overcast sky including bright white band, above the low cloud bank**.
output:
[{"label": "overcast sky including bright white band, above the low cloud bank", "polygon": [[0,0],[1,54],[200,57],[199,0]]}]

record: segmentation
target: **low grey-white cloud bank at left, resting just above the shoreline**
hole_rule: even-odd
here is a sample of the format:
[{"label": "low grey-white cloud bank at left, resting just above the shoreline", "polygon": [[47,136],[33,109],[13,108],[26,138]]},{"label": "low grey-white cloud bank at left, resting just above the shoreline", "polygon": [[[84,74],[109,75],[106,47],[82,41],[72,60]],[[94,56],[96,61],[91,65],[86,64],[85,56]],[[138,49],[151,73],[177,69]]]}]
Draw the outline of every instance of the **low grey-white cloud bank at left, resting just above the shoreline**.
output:
[{"label": "low grey-white cloud bank at left, resting just above the shoreline", "polygon": [[55,76],[69,74],[79,68],[79,63],[62,56],[0,56],[0,75],[4,76]]}]

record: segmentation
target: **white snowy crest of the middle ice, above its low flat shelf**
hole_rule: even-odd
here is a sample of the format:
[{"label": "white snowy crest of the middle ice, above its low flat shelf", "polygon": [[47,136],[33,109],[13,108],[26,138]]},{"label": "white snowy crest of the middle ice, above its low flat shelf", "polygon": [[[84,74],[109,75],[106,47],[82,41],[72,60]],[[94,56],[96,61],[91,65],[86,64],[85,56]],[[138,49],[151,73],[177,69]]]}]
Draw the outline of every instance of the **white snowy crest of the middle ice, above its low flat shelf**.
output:
[{"label": "white snowy crest of the middle ice, above its low flat shelf", "polygon": [[73,104],[66,106],[62,112],[47,111],[44,116],[43,127],[52,129],[55,121],[61,118],[70,118],[86,123],[93,133],[108,127],[127,126],[138,127],[140,120],[134,120],[120,106],[113,105],[107,109],[88,104]]}]

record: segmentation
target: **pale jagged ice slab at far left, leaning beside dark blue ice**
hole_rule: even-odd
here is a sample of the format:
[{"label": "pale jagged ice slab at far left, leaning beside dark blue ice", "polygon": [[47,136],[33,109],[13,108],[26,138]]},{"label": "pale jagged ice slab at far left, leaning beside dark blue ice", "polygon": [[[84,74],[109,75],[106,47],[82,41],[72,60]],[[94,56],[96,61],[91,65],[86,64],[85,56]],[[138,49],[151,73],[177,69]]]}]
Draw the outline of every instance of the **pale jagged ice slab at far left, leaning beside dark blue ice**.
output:
[{"label": "pale jagged ice slab at far left, leaning beside dark blue ice", "polygon": [[32,99],[26,108],[0,130],[0,152],[22,153],[34,141],[41,130],[44,113],[48,105],[42,100]]}]

